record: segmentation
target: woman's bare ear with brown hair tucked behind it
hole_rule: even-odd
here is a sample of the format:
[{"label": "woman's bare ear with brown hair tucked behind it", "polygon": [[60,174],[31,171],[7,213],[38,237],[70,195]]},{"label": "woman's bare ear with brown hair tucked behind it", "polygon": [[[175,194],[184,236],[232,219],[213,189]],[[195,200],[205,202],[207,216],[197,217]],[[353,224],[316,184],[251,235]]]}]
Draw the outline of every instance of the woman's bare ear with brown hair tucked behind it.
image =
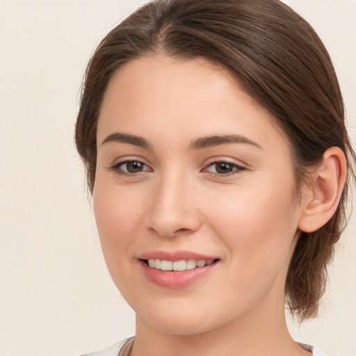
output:
[{"label": "woman's bare ear with brown hair tucked behind it", "polygon": [[346,158],[339,147],[330,147],[323,154],[323,161],[312,182],[305,186],[302,216],[298,228],[314,232],[332,218],[339,205],[346,180]]}]

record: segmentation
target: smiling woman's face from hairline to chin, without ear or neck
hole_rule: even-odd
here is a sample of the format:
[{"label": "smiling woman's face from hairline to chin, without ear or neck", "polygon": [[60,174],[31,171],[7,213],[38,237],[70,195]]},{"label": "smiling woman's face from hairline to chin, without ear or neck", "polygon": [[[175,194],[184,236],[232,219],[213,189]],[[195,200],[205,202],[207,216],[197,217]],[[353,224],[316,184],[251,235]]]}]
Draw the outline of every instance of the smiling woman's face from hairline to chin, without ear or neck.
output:
[{"label": "smiling woman's face from hairline to chin, without ear or neck", "polygon": [[97,127],[94,209],[140,323],[195,334],[275,317],[302,204],[286,139],[226,72],[157,55],[115,73]]}]

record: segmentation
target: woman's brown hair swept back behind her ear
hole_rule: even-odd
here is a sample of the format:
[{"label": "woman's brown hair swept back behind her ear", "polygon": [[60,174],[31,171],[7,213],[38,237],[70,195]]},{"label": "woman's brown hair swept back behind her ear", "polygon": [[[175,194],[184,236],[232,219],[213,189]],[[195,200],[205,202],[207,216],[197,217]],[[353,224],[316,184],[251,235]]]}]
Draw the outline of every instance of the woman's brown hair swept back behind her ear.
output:
[{"label": "woman's brown hair swept back behind her ear", "polygon": [[106,35],[86,70],[75,140],[90,191],[97,120],[108,81],[130,60],[157,52],[202,56],[226,67],[289,138],[297,188],[327,148],[345,152],[348,180],[339,207],[321,229],[301,232],[286,278],[291,312],[300,320],[316,316],[326,267],[345,225],[350,177],[355,178],[339,83],[320,38],[278,0],[158,0],[139,8]]}]

